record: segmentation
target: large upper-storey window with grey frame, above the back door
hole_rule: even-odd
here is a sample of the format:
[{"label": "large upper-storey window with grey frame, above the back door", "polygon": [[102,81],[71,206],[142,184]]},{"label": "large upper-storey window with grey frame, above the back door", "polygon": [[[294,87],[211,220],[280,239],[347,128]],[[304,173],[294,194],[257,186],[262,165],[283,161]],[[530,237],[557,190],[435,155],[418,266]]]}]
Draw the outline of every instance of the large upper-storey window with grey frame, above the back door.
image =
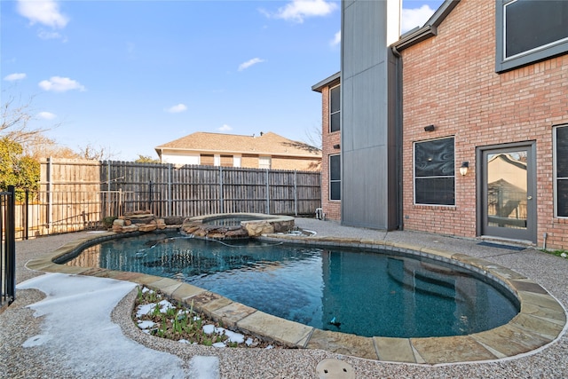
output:
[{"label": "large upper-storey window with grey frame, above the back door", "polygon": [[496,4],[497,72],[568,51],[568,2],[499,0]]}]

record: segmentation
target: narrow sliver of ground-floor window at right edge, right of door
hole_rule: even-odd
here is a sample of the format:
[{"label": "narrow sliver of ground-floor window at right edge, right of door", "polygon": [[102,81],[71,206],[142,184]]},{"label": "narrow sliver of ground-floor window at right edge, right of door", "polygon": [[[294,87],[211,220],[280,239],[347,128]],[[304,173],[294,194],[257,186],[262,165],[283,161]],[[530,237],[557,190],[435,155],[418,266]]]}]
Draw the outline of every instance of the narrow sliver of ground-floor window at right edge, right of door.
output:
[{"label": "narrow sliver of ground-floor window at right edge, right of door", "polygon": [[568,125],[555,128],[556,217],[568,217]]}]

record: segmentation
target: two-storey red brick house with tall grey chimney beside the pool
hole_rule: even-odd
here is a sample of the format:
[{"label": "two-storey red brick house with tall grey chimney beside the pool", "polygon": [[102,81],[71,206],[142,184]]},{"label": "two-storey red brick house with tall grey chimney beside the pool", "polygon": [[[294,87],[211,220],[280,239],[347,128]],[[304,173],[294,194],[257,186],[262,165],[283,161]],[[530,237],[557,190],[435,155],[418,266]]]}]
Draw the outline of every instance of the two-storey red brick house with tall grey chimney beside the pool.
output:
[{"label": "two-storey red brick house with tall grey chimney beside the pool", "polygon": [[[383,38],[390,26],[373,17],[351,25],[358,14],[383,20],[398,1],[369,3],[342,2],[342,71],[312,86],[322,97],[327,217],[568,249],[568,2],[448,0],[394,42]],[[358,28],[381,37],[370,41]],[[376,79],[359,80],[369,67],[380,67]],[[330,129],[334,88],[341,131]],[[368,97],[383,119],[375,110],[361,115]],[[383,138],[375,145],[353,138],[373,133]],[[358,158],[365,149],[375,152],[367,164]],[[332,201],[336,155],[341,195]],[[374,170],[377,178],[367,179]],[[375,187],[388,206],[377,204]],[[383,218],[351,211],[357,201]],[[392,202],[396,209],[387,209]]]}]

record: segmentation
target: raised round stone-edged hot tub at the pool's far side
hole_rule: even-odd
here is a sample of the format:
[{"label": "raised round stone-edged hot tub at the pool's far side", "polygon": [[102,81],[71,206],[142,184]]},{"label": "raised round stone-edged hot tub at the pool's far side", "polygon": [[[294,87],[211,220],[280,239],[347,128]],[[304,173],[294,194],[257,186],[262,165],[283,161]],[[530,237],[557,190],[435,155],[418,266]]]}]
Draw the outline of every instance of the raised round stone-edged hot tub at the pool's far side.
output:
[{"label": "raised round stone-edged hot tub at the pool's far side", "polygon": [[294,229],[294,217],[264,213],[217,213],[185,218],[181,233],[215,240],[258,237],[287,233]]}]

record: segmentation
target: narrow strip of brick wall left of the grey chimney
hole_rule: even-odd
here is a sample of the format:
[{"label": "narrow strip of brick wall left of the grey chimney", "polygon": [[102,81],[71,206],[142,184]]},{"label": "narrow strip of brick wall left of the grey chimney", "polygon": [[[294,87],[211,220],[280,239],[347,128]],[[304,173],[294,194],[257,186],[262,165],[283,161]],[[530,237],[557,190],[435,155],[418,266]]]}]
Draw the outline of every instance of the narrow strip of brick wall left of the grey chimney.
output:
[{"label": "narrow strip of brick wall left of the grey chimney", "polygon": [[321,90],[321,208],[327,218],[340,220],[341,201],[329,200],[329,155],[341,153],[341,149],[334,148],[341,143],[341,131],[329,132],[329,88]]}]

